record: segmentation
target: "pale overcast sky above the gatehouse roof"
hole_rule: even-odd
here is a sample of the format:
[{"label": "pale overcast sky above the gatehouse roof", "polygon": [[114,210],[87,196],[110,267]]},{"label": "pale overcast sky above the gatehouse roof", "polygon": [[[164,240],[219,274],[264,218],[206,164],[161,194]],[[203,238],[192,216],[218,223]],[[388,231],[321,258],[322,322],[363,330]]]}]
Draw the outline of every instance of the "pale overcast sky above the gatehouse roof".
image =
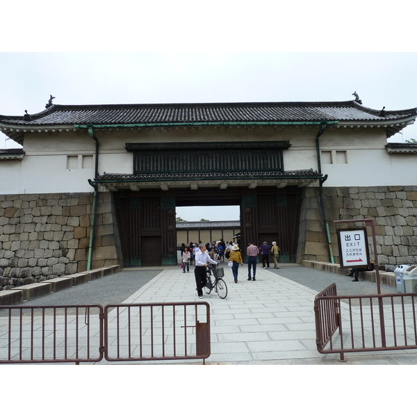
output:
[{"label": "pale overcast sky above the gatehouse roof", "polygon": [[[118,4],[75,1],[55,16],[51,1],[4,6],[5,15],[19,11],[19,26],[5,19],[0,27],[8,41],[0,47],[0,114],[40,113],[49,95],[54,104],[146,104],[345,101],[356,91],[377,110],[417,107],[417,53],[404,42],[412,13],[374,10],[368,1],[352,1],[343,13],[331,1],[213,1],[210,9],[156,2],[129,13],[128,3]],[[417,124],[391,140],[410,138]],[[0,149],[18,146],[0,133]],[[237,212],[211,213],[179,215],[234,220]]]}]

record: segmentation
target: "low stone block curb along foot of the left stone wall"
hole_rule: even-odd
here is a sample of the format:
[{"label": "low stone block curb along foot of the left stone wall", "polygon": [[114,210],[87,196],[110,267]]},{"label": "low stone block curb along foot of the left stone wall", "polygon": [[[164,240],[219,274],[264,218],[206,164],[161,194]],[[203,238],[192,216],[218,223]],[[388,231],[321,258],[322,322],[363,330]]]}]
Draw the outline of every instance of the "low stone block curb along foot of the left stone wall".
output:
[{"label": "low stone block curb along foot of the left stone wall", "polygon": [[23,301],[33,300],[33,298],[40,297],[41,295],[56,293],[56,291],[83,284],[93,279],[106,277],[121,269],[120,265],[111,265],[95,270],[79,272],[78,274],[47,279],[36,284],[27,284],[10,290],[3,290],[0,291],[0,306],[19,304]]}]

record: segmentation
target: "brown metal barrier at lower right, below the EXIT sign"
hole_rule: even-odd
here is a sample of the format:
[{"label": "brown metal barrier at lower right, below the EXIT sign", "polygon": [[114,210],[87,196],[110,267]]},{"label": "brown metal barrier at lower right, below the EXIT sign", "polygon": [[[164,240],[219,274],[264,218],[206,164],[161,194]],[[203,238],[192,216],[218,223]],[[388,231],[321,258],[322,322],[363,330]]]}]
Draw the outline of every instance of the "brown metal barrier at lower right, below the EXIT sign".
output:
[{"label": "brown metal barrier at lower right, below the EXIT sign", "polygon": [[341,295],[332,284],[316,295],[320,353],[417,349],[417,293]]}]

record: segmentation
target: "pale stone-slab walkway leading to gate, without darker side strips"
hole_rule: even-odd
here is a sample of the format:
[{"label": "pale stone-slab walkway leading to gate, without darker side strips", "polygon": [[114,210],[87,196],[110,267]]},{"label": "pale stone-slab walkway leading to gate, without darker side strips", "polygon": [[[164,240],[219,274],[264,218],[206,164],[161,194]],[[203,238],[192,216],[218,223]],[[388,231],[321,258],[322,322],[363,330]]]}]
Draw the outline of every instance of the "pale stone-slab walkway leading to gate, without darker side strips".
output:
[{"label": "pale stone-slab walkway leading to gate, without darker side strips", "polygon": [[[198,302],[193,272],[165,269],[124,302]],[[224,266],[224,272],[227,298],[213,291],[201,300],[211,309],[211,356],[206,364],[417,363],[417,353],[410,351],[355,352],[345,354],[346,362],[339,361],[339,354],[320,354],[313,311],[316,291],[261,268],[256,281],[247,281],[246,268],[241,267],[238,284],[230,268]]]}]

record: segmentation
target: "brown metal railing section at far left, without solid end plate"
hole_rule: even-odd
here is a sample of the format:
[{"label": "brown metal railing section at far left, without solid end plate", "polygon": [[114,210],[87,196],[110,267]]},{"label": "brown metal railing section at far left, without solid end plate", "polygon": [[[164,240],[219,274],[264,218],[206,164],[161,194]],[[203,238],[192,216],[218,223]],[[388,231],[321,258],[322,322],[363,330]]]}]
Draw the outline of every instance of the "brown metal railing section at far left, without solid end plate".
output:
[{"label": "brown metal railing section at far left, without solid end plate", "polygon": [[103,307],[0,306],[0,363],[103,359]]}]

